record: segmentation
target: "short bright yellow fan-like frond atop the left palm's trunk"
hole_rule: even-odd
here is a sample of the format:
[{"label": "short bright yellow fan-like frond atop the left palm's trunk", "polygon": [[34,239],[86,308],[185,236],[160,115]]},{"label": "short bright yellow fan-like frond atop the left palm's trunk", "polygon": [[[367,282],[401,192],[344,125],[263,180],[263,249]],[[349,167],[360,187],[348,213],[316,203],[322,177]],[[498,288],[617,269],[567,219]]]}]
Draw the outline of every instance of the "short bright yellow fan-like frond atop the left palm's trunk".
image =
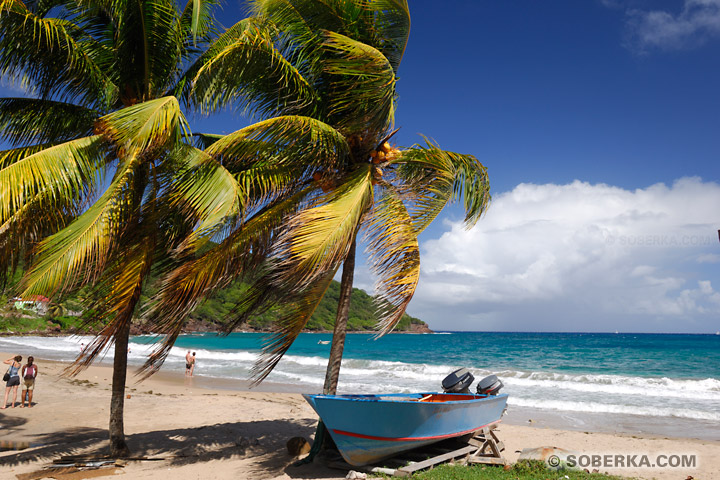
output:
[{"label": "short bright yellow fan-like frond atop the left palm's trunk", "polygon": [[175,97],[149,100],[105,115],[98,121],[97,130],[125,152],[156,151],[189,134]]}]

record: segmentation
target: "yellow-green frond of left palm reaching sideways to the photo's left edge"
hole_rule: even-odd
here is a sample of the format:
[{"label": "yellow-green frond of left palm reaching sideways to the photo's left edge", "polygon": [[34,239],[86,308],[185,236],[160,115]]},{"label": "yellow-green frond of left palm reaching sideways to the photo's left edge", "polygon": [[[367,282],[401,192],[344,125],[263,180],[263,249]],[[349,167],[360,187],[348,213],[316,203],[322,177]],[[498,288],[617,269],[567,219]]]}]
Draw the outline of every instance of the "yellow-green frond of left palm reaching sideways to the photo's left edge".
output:
[{"label": "yellow-green frond of left palm reaching sideways to the photo's left edge", "polygon": [[103,138],[96,135],[37,151],[36,147],[30,147],[2,152],[0,223],[40,192],[48,207],[64,204],[87,192],[98,180],[104,146]]}]

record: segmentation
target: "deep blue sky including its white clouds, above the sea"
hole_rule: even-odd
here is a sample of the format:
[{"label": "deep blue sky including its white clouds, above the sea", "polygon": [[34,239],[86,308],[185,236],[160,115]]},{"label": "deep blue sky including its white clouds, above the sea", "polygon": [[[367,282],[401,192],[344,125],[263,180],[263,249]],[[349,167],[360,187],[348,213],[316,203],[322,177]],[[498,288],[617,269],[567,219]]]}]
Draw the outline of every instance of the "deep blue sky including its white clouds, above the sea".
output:
[{"label": "deep blue sky including its white clouds, above the sea", "polygon": [[[423,234],[409,313],[437,330],[720,330],[720,0],[410,8],[396,140],[475,155],[494,200],[469,232],[451,207]],[[365,267],[356,283],[372,290]]]}]

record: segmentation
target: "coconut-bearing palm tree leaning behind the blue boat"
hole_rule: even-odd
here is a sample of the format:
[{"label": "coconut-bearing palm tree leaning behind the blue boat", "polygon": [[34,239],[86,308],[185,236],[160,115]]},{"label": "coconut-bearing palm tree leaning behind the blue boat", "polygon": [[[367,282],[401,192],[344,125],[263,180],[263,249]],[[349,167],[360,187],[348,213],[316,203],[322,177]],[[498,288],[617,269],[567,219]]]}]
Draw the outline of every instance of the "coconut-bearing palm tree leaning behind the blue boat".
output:
[{"label": "coconut-bearing palm tree leaning behind the blue boat", "polygon": [[205,228],[219,244],[188,258],[164,280],[150,311],[167,334],[155,353],[167,355],[197,302],[244,278],[248,294],[229,330],[271,306],[287,306],[255,366],[260,382],[342,266],[323,389],[334,393],[358,234],[365,233],[379,278],[383,334],[415,292],[418,235],[453,200],[463,201],[466,223],[473,225],[490,199],[487,174],[475,157],[427,140],[406,149],[389,143],[396,75],[410,27],[406,0],[256,0],[252,7],[253,17],[210,47],[212,58],[193,72],[191,95],[206,111],[233,105],[264,118],[210,139],[204,154],[215,163],[206,162],[194,175],[226,178],[227,198],[240,189],[248,201],[233,208],[225,203],[216,218],[232,222]]}]

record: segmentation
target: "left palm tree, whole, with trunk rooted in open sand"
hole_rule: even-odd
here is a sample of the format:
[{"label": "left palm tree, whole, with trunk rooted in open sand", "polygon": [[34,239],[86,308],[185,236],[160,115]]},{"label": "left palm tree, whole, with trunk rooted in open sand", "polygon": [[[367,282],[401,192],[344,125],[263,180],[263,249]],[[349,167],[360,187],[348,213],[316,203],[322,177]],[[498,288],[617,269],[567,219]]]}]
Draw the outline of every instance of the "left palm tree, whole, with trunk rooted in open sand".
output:
[{"label": "left palm tree, whole, with trunk rooted in open sand", "polygon": [[23,295],[94,285],[105,326],[70,373],[114,343],[114,456],[128,453],[127,344],[141,288],[197,221],[169,211],[166,192],[195,158],[176,96],[211,33],[211,6],[0,0],[0,73],[30,93],[0,99],[0,134],[14,146],[0,152],[0,272],[25,257]]}]

